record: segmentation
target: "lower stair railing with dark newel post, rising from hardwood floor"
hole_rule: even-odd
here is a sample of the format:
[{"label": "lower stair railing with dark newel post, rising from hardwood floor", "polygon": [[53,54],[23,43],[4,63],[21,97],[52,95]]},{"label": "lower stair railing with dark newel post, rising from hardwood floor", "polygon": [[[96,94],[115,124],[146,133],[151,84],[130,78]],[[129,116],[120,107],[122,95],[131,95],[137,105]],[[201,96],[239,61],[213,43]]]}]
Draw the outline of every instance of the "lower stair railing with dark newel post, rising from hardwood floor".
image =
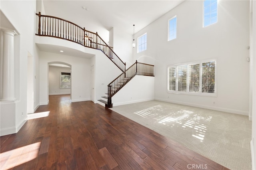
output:
[{"label": "lower stair railing with dark newel post, rising from hardwood floor", "polygon": [[136,62],[116,79],[108,84],[108,106],[112,105],[112,97],[126,85],[135,75],[154,76],[154,65]]}]

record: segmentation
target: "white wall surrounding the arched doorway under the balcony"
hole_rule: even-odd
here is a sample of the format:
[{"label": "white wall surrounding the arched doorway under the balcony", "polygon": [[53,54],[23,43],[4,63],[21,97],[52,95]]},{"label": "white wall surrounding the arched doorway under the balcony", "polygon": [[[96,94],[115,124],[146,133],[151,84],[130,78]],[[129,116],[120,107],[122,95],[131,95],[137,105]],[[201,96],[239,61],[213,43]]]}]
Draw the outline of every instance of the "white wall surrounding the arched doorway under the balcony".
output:
[{"label": "white wall surrounding the arched doorway under the balcony", "polygon": [[71,65],[71,100],[90,100],[90,59],[40,51],[40,105],[48,104],[48,63]]}]

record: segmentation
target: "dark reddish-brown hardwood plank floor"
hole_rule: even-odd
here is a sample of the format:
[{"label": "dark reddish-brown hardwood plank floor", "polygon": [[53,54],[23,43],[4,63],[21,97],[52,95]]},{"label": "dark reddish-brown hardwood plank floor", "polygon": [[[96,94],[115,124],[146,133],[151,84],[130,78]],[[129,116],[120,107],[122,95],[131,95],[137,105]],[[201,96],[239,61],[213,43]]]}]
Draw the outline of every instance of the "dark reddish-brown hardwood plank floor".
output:
[{"label": "dark reddish-brown hardwood plank floor", "polygon": [[49,96],[16,134],[0,137],[0,167],[13,170],[227,170],[91,101]]}]

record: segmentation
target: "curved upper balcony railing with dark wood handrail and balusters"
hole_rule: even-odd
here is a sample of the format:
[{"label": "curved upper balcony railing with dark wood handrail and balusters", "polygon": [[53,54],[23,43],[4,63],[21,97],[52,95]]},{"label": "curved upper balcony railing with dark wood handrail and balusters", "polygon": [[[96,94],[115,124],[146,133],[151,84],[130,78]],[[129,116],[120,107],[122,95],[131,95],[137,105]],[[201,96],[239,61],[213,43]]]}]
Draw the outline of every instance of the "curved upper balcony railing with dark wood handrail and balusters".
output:
[{"label": "curved upper balcony railing with dark wood handrail and balusters", "polygon": [[125,71],[126,63],[124,63],[116,53],[113,47],[110,47],[98,33],[85,30],[70,21],[62,18],[41,15],[41,12],[36,14],[38,20],[37,36],[47,36],[68,40],[78,43],[84,47],[90,47],[101,50],[121,71]]}]

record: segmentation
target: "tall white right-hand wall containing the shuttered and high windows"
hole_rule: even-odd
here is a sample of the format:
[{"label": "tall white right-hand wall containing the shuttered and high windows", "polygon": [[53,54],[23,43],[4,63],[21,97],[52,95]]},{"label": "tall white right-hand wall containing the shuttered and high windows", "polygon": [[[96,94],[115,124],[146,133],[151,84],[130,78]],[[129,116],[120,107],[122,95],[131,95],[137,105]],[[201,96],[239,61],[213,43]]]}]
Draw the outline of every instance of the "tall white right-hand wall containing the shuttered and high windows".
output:
[{"label": "tall white right-hand wall containing the shuttered and high windows", "polygon": [[[185,1],[136,34],[147,33],[147,50],[134,58],[155,65],[155,99],[248,115],[249,1],[218,1],[218,22],[202,27],[203,1]],[[167,41],[168,20],[177,16],[177,38]],[[217,59],[217,97],[167,92],[167,66]],[[148,63],[148,62],[147,62]],[[214,104],[215,103],[215,104]]]}]

